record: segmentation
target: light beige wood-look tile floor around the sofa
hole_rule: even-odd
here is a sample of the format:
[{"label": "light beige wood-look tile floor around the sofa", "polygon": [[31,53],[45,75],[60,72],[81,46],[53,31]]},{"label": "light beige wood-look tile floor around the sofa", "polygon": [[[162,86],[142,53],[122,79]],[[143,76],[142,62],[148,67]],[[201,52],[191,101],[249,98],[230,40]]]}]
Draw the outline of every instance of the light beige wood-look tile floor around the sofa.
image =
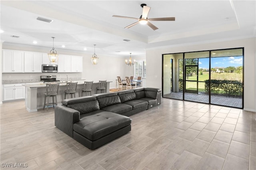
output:
[{"label": "light beige wood-look tile floor around the sofa", "polygon": [[131,116],[128,134],[89,150],[54,126],[54,109],[28,113],[24,101],[4,103],[0,113],[1,165],[96,170],[255,170],[254,112],[162,99]]}]

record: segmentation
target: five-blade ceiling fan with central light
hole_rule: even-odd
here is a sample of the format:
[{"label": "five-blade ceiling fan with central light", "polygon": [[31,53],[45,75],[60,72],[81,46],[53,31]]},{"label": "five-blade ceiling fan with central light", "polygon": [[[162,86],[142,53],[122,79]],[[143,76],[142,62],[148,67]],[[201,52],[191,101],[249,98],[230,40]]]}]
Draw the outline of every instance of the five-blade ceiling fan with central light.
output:
[{"label": "five-blade ceiling fan with central light", "polygon": [[129,19],[138,20],[137,22],[134,22],[133,24],[131,24],[125,28],[130,28],[130,27],[135,26],[136,24],[140,23],[140,24],[147,24],[153,30],[157,30],[158,28],[156,26],[154,26],[153,24],[151,24],[149,21],[175,21],[175,17],[148,18],[148,12],[150,10],[150,7],[147,6],[146,4],[141,4],[140,6],[143,8],[142,15],[140,16],[140,18],[132,18],[132,17],[118,16],[118,15],[113,15],[113,17],[129,18]]}]

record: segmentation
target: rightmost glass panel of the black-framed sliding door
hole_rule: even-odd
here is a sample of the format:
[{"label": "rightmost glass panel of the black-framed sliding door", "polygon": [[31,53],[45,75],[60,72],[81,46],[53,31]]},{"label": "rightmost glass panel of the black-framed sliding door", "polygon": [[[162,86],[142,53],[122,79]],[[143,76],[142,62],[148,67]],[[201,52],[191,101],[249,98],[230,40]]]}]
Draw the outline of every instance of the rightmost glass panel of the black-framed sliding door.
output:
[{"label": "rightmost glass panel of the black-framed sliding door", "polygon": [[243,49],[211,51],[210,103],[242,108]]}]

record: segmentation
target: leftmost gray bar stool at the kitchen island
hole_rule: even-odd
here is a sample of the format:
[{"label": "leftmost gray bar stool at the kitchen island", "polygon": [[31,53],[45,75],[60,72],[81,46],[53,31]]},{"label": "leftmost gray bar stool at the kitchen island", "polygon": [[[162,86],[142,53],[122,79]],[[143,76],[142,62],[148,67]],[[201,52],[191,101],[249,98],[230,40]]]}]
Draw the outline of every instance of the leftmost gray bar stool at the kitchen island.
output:
[{"label": "leftmost gray bar stool at the kitchen island", "polygon": [[[46,92],[44,93],[44,108],[45,105],[47,105],[47,111],[49,104],[52,104],[54,107],[57,104],[57,94],[58,94],[58,89],[59,89],[59,83],[46,83]],[[52,103],[49,103],[49,97],[52,97]],[[55,102],[54,102],[54,97],[55,97]],[[46,98],[47,98],[47,104],[46,104]],[[44,109],[43,108],[43,109]]]}]

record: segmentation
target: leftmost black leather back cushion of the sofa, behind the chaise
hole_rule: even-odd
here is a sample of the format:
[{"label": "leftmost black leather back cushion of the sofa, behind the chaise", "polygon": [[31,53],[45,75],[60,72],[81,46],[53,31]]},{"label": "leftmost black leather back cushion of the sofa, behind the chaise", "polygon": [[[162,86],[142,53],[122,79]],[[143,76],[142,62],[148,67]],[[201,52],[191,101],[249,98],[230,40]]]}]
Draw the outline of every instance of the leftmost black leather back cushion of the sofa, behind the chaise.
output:
[{"label": "leftmost black leather back cushion of the sofa, behind the chaise", "polygon": [[92,97],[92,96],[65,99],[61,103],[66,107],[79,111],[80,114],[89,113],[89,112],[100,109],[100,106],[96,97]]}]

